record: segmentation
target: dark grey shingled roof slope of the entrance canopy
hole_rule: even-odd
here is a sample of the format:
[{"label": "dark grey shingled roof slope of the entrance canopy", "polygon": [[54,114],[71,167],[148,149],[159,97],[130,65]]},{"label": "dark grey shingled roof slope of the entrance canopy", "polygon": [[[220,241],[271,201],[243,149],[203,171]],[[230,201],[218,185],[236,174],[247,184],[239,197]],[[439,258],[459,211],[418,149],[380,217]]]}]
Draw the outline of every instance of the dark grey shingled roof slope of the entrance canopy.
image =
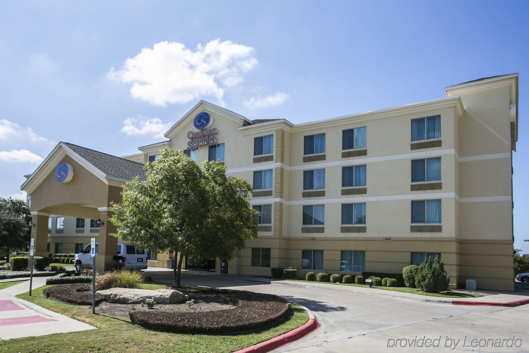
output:
[{"label": "dark grey shingled roof slope of the entrance canopy", "polygon": [[92,164],[106,175],[127,180],[132,180],[134,177],[140,177],[140,179],[145,180],[145,169],[143,169],[144,165],[141,163],[125,160],[121,157],[94,151],[94,149],[70,144],[68,142],[63,142],[63,144],[68,146],[68,148],[79,156],[85,158],[88,163]]}]

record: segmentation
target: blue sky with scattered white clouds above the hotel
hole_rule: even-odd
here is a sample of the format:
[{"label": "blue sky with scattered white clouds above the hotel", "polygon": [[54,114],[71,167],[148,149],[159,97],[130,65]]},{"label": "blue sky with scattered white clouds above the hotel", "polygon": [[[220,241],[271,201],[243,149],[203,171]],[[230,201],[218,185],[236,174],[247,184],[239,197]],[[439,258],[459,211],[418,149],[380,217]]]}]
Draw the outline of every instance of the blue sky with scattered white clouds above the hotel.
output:
[{"label": "blue sky with scattered white clouds above the hotel", "polygon": [[[297,123],[443,98],[445,86],[518,72],[515,246],[529,252],[528,10],[486,1],[1,2],[0,195],[19,194],[22,175],[60,140],[137,153],[199,99]],[[201,69],[190,73],[189,63]]]}]

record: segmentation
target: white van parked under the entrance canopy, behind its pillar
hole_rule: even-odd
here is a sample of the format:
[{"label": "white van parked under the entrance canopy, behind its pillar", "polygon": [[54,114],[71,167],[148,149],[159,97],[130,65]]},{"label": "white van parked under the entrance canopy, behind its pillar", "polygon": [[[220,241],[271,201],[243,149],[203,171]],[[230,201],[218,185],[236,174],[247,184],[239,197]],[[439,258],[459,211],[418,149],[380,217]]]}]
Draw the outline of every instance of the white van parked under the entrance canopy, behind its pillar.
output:
[{"label": "white van parked under the entrance canopy, behind its pillar", "polygon": [[[96,243],[96,254],[98,243]],[[145,269],[147,268],[147,252],[135,244],[117,243],[117,255],[114,256],[114,261],[124,263],[127,269]],[[83,252],[80,252],[74,257],[75,270],[79,272],[81,264],[92,263],[90,256],[90,244],[86,245]]]}]

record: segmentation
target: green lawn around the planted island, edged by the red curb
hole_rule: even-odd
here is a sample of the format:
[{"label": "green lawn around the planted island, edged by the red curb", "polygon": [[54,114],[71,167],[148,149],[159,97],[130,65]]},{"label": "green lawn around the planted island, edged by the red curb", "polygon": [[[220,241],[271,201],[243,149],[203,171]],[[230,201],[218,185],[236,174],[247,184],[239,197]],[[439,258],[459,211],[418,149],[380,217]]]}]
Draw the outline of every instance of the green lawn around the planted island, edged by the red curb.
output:
[{"label": "green lawn around the planted island, edged by the red curb", "polygon": [[[151,282],[145,289],[165,288],[167,284]],[[50,334],[34,338],[0,341],[0,351],[8,352],[231,352],[266,341],[303,325],[308,315],[303,308],[290,304],[290,314],[285,321],[267,329],[247,334],[181,334],[158,332],[138,328],[128,318],[115,318],[92,314],[88,306],[70,305],[52,301],[42,296],[42,290],[50,286],[33,289],[17,297],[73,319],[96,326],[98,330]],[[184,286],[183,292],[200,290],[199,287]]]}]

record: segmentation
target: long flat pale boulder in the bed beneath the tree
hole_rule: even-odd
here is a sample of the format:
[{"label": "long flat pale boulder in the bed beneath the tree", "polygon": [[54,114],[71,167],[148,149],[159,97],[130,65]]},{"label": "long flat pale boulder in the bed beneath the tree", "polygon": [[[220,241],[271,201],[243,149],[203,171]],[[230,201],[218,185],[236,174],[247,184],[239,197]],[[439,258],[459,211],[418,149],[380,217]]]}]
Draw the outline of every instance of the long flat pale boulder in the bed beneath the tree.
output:
[{"label": "long flat pale boulder in the bed beneath the tree", "polygon": [[96,293],[101,295],[105,302],[115,304],[141,304],[145,299],[152,299],[157,304],[175,304],[189,298],[174,289],[110,288],[98,290]]}]

